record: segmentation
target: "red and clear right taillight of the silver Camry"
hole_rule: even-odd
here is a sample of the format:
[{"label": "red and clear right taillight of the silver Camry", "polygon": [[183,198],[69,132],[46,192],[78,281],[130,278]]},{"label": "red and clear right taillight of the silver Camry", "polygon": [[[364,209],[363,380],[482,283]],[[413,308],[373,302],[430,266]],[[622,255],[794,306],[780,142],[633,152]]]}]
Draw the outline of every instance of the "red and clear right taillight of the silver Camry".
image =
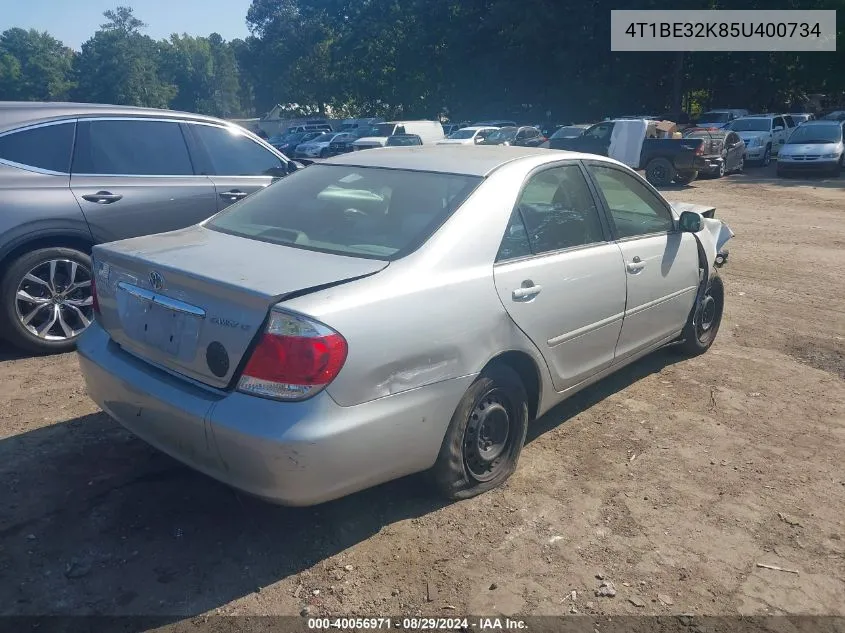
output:
[{"label": "red and clear right taillight of the silver Camry", "polygon": [[273,311],[238,390],[278,400],[308,398],[340,373],[347,350],[346,339],[327,325]]}]

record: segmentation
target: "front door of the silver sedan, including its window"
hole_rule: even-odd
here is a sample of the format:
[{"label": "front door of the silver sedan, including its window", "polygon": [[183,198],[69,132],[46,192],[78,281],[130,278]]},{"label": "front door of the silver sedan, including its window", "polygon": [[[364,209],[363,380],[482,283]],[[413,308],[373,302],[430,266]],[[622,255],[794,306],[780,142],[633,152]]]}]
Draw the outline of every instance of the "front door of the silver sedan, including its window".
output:
[{"label": "front door of the silver sedan, including its window", "polygon": [[676,230],[669,205],[641,178],[603,163],[590,163],[588,170],[610,216],[628,280],[616,346],[621,360],[683,329],[698,289],[698,246],[695,236]]}]

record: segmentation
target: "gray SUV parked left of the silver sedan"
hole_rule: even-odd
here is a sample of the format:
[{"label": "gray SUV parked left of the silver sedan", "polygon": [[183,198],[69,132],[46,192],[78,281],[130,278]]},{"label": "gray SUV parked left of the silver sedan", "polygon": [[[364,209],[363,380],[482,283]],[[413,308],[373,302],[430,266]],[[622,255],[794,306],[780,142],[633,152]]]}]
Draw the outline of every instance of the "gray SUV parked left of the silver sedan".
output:
[{"label": "gray SUV parked left of the silver sedan", "polygon": [[0,103],[0,335],[72,349],[93,318],[94,244],[196,224],[295,167],[211,117]]}]

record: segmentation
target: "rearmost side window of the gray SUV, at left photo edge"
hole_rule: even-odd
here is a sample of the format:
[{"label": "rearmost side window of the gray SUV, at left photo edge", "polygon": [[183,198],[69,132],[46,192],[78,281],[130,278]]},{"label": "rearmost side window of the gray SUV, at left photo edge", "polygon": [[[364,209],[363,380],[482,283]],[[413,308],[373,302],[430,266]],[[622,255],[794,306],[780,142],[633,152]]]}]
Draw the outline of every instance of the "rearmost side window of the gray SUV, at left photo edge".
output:
[{"label": "rearmost side window of the gray SUV, at left photo edge", "polygon": [[75,127],[73,122],[58,123],[0,136],[0,159],[66,174]]}]

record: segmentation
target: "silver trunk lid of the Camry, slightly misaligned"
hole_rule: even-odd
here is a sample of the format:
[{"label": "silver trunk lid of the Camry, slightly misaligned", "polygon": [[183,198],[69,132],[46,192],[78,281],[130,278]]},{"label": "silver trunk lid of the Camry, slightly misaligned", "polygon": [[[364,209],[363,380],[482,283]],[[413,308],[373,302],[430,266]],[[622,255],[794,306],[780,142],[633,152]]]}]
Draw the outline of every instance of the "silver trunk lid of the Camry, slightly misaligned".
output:
[{"label": "silver trunk lid of the Camry, slightly misaligned", "polygon": [[224,388],[274,304],[388,262],[309,251],[201,226],[94,248],[97,320],[155,365]]}]

